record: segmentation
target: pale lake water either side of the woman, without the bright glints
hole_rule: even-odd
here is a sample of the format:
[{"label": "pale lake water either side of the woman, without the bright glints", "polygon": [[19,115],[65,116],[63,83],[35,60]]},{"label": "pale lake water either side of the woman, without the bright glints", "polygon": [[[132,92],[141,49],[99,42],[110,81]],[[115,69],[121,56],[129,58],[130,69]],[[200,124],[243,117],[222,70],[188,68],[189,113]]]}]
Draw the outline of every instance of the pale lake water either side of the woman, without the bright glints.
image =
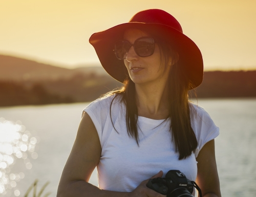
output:
[{"label": "pale lake water either side of the woman, without the bright glints", "polygon": [[[81,111],[88,104],[0,108],[0,118],[14,122],[20,120],[32,136],[40,139],[34,150],[38,158],[29,160],[32,168],[26,168],[28,160],[24,163],[23,159],[17,159],[10,173],[23,172],[25,177],[17,180],[16,186],[8,189],[7,194],[0,196],[15,196],[14,190],[19,190],[19,196],[24,196],[35,179],[39,180],[37,191],[50,181],[44,193],[51,191],[50,196],[56,196],[62,169],[76,137]],[[198,105],[220,128],[220,135],[216,138],[216,160],[222,196],[255,196],[256,99],[201,99]],[[90,183],[97,185],[96,171]]]}]

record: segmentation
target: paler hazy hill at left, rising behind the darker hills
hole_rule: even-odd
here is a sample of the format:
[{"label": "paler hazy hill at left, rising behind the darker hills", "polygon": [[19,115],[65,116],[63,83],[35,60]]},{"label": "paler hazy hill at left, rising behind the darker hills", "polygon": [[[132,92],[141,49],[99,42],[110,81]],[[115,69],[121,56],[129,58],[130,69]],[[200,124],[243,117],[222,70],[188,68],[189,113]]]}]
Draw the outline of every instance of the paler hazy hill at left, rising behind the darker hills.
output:
[{"label": "paler hazy hill at left, rising behind the darker hills", "polygon": [[0,55],[0,80],[41,81],[71,79],[74,75],[105,75],[101,66],[67,69],[23,58]]}]

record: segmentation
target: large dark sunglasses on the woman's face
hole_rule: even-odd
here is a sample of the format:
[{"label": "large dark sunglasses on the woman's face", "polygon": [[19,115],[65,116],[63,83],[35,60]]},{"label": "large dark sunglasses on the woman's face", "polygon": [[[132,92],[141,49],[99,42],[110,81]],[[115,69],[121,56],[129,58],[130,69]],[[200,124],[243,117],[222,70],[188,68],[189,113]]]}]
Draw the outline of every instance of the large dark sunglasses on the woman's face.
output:
[{"label": "large dark sunglasses on the woman's face", "polygon": [[119,40],[115,43],[115,54],[117,59],[125,59],[131,46],[134,47],[134,51],[139,57],[148,57],[154,53],[155,41],[151,37],[138,38],[135,40],[134,44],[131,44],[127,40]]}]

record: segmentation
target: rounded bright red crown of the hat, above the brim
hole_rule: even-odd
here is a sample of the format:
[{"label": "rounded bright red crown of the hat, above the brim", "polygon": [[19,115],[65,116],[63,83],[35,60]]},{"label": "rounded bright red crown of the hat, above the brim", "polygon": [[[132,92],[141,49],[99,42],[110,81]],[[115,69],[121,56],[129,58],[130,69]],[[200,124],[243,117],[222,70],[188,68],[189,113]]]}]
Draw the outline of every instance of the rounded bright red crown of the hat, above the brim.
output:
[{"label": "rounded bright red crown of the hat, above the brim", "polygon": [[172,27],[179,32],[183,33],[182,28],[178,20],[169,13],[159,10],[159,9],[150,9],[143,10],[135,14],[129,22],[143,22],[143,23],[159,23],[164,24],[165,26]]}]

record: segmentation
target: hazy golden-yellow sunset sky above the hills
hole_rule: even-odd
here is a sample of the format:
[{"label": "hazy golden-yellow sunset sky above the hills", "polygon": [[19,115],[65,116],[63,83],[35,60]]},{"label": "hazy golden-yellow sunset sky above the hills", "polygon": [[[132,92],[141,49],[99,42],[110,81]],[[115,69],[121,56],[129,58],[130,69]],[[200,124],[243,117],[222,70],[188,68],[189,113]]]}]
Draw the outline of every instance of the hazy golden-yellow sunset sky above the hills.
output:
[{"label": "hazy golden-yellow sunset sky above the hills", "polygon": [[206,70],[256,69],[255,0],[0,0],[0,54],[69,68],[100,64],[90,36],[152,8],[180,22]]}]

